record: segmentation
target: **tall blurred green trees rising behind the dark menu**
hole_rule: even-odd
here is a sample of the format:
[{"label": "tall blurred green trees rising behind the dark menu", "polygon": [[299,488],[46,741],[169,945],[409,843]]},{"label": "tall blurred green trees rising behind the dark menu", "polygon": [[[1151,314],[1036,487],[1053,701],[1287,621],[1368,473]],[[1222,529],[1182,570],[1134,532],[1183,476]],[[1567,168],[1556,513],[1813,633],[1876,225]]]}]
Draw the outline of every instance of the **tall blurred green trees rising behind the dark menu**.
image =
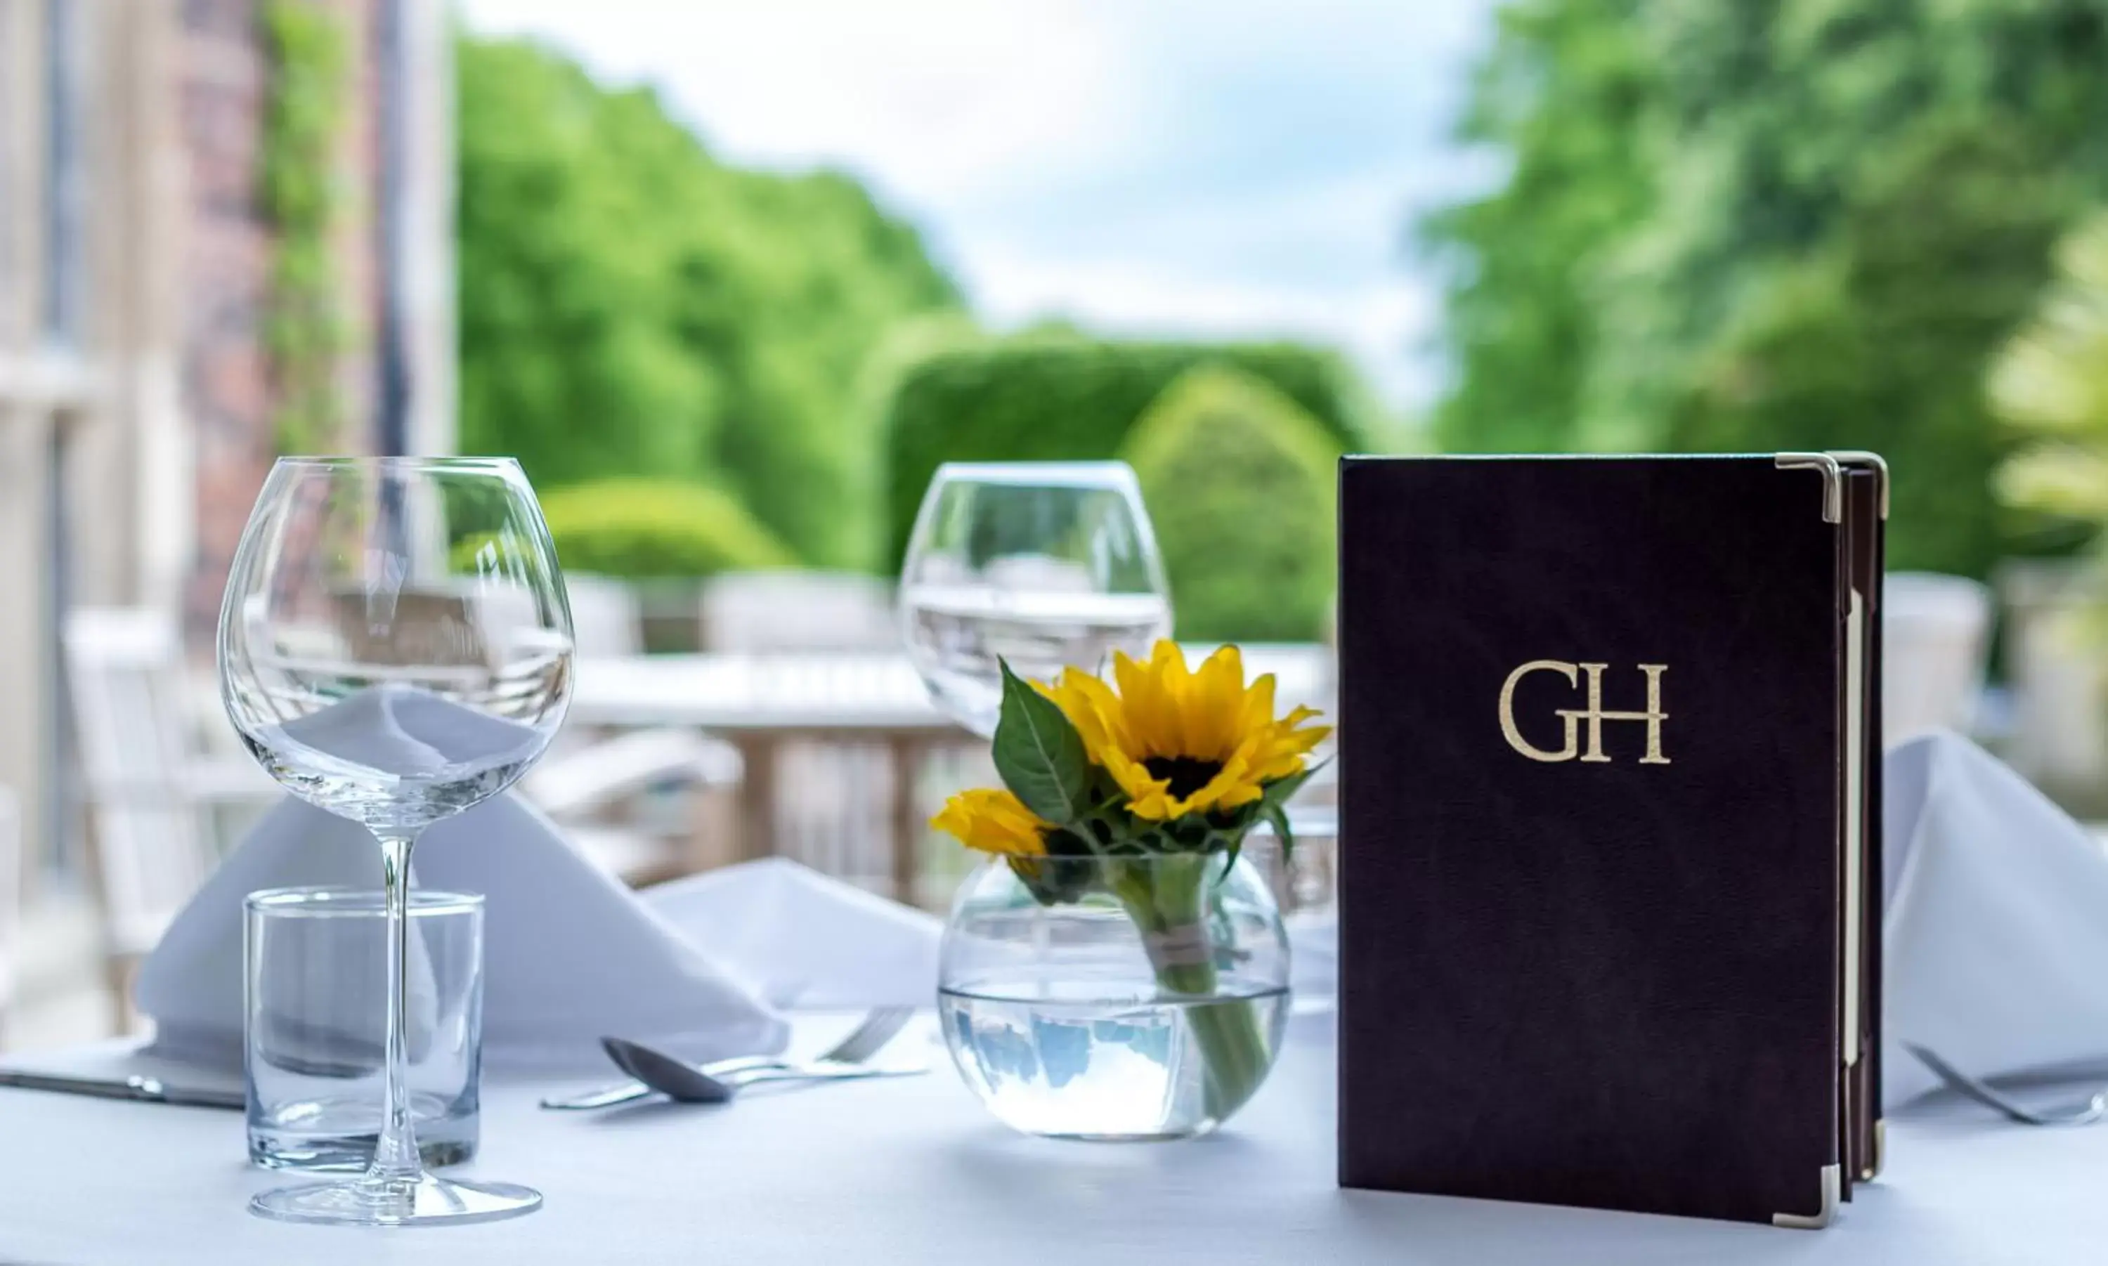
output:
[{"label": "tall blurred green trees rising behind the dark menu", "polygon": [[1423,225],[1450,449],[1878,449],[1891,560],[2015,546],[1982,392],[2074,194],[2108,192],[2097,0],[1518,0]]}]

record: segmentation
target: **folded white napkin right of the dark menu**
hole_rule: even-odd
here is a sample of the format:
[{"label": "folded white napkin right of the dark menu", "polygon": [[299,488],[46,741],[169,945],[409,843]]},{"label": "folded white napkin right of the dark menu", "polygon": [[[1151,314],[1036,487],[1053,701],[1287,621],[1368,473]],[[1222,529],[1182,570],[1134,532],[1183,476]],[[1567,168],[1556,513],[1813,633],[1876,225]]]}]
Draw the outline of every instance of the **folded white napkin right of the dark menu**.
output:
[{"label": "folded white napkin right of the dark menu", "polygon": [[1882,1091],[2108,1066],[2108,853],[2024,777],[1935,731],[1885,765]]}]

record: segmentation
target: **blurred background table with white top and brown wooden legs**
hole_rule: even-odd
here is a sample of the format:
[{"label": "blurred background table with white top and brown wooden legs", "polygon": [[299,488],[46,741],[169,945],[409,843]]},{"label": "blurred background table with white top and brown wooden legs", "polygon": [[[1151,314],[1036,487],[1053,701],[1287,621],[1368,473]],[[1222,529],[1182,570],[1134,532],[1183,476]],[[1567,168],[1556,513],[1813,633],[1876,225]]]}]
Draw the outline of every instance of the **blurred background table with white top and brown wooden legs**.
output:
[{"label": "blurred background table with white top and brown wooden legs", "polygon": [[[1189,647],[1189,657],[1208,647]],[[1328,655],[1315,645],[1244,647],[1246,672],[1271,672],[1284,706],[1320,704]],[[786,744],[879,744],[887,750],[898,822],[894,895],[915,887],[923,805],[915,796],[921,760],[946,741],[974,741],[930,701],[900,651],[801,651],[778,655],[630,655],[580,659],[573,725],[706,729],[740,750],[740,853],[776,849],[778,756]]]}]

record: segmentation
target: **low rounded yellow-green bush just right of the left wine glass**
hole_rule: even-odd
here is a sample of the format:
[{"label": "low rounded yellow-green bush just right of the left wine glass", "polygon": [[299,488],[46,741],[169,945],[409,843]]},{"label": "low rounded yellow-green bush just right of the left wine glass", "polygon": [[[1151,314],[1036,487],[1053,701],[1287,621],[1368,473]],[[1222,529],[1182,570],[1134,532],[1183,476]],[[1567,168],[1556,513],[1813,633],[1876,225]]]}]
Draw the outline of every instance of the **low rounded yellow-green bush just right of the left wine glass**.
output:
[{"label": "low rounded yellow-green bush just right of the left wine glass", "polygon": [[[651,478],[609,478],[542,495],[557,558],[571,571],[635,579],[704,577],[788,567],[790,550],[717,489]],[[472,567],[481,539],[455,546]]]}]

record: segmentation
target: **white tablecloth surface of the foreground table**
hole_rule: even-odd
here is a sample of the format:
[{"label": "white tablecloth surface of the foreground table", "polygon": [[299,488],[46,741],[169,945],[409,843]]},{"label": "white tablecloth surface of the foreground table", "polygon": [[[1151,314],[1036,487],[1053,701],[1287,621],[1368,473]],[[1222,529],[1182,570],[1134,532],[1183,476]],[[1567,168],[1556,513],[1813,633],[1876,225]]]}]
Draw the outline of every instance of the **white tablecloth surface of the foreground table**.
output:
[{"label": "white tablecloth surface of the foreground table", "polygon": [[1010,1133],[932,1053],[930,1076],[719,1108],[565,1114],[533,1106],[546,1087],[487,1085],[483,1156],[460,1173],[527,1182],[548,1203],[411,1230],[249,1215],[251,1192],[297,1175],[251,1169],[234,1112],[0,1091],[0,1262],[2007,1266],[2108,1253],[2108,1127],[2024,1129],[1960,1104],[1891,1121],[1889,1173],[1836,1226],[1775,1230],[1339,1190],[1328,1015],[1296,1015],[1258,1097],[1221,1133],[1178,1144]]}]

